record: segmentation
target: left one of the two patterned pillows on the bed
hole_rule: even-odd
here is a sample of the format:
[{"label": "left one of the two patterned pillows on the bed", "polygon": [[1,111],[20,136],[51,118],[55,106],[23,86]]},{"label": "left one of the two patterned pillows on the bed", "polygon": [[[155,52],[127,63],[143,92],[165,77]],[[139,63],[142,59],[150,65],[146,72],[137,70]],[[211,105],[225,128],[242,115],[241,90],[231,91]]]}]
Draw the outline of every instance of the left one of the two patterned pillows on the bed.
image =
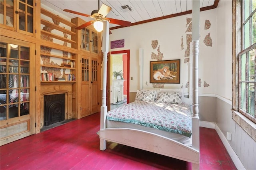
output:
[{"label": "left one of the two patterned pillows on the bed", "polygon": [[157,91],[156,90],[138,90],[135,100],[142,101],[156,101]]}]

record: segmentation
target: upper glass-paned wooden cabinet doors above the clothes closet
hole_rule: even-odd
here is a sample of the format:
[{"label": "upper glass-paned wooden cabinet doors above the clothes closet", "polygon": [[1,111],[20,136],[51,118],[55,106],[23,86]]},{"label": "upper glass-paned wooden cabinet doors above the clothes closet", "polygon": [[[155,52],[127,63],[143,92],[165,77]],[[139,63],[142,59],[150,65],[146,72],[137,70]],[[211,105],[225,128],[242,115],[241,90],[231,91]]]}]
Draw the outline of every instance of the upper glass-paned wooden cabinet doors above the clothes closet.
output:
[{"label": "upper glass-paned wooden cabinet doors above the clothes closet", "polygon": [[0,0],[0,24],[22,34],[35,36],[36,0]]}]

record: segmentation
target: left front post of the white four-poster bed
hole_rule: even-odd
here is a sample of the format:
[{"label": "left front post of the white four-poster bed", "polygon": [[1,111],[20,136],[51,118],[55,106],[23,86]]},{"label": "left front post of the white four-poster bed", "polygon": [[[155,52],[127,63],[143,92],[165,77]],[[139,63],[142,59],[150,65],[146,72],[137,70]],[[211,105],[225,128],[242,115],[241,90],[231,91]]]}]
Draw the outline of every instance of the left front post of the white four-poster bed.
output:
[{"label": "left front post of the white four-poster bed", "polygon": [[[109,22],[103,22],[103,34],[102,34],[102,106],[100,107],[100,129],[106,128],[106,116],[107,116],[107,61],[108,61],[108,46],[109,46]],[[100,150],[106,149],[106,140],[100,139]]]}]

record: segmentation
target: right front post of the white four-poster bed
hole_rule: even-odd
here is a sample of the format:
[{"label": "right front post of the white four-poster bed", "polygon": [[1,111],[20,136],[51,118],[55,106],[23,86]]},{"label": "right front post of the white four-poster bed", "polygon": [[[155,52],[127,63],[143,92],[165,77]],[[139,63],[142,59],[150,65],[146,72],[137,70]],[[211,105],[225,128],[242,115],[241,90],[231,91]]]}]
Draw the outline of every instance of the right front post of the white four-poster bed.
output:
[{"label": "right front post of the white four-poster bed", "polygon": [[[199,151],[199,110],[198,110],[198,53],[200,30],[200,0],[192,1],[192,148]],[[200,159],[199,159],[200,160]],[[199,164],[192,164],[192,168],[199,169]]]}]

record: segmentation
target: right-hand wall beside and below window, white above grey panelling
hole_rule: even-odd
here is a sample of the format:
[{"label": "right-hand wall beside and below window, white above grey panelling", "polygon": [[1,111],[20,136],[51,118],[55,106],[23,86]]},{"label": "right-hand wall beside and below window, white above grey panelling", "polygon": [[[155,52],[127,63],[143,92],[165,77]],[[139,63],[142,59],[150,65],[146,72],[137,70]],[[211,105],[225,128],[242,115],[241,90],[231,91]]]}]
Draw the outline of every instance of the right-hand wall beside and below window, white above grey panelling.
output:
[{"label": "right-hand wall beside and below window, white above grey panelling", "polygon": [[[225,16],[225,17],[223,17]],[[231,132],[231,154],[238,169],[256,169],[256,142],[232,119],[232,1],[221,0],[216,11],[217,18],[217,102],[216,124],[226,137]],[[224,139],[225,140],[225,139]]]}]

